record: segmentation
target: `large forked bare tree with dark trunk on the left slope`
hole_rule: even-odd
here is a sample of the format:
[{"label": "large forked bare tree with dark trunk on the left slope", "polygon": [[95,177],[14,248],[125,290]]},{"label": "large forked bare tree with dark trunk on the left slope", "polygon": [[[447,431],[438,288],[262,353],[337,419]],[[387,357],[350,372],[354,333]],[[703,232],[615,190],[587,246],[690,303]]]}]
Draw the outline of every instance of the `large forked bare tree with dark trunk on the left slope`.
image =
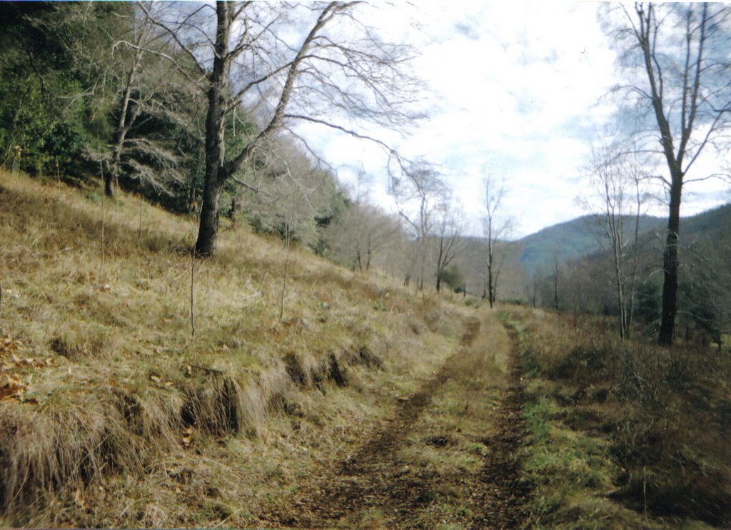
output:
[{"label": "large forked bare tree with dark trunk on the left slope", "polygon": [[[405,71],[408,50],[382,42],[360,23],[359,2],[181,5],[171,4],[164,16],[143,10],[192,62],[189,73],[170,58],[207,97],[200,255],[216,248],[221,187],[282,129],[306,121],[385,147],[335,117],[393,128],[412,117],[404,110],[414,86]],[[258,109],[261,126],[243,148],[227,154],[226,118],[242,102]]]}]

